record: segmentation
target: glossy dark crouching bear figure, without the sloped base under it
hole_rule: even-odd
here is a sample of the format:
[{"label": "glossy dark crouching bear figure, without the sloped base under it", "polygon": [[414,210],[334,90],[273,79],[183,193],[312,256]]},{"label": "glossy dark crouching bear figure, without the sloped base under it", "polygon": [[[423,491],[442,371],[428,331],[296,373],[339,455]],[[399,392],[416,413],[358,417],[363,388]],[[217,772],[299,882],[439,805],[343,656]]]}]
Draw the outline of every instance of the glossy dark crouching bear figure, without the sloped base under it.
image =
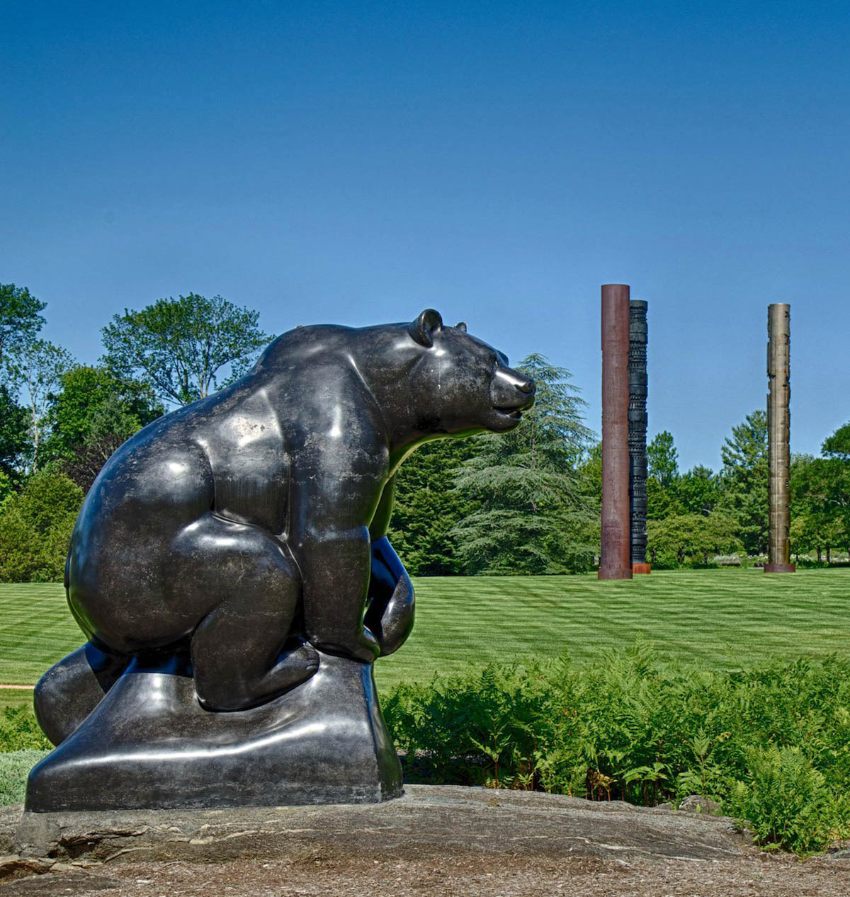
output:
[{"label": "glossy dark crouching bear figure, without the sloped base under it", "polygon": [[[504,354],[427,309],[409,324],[298,327],[230,387],[149,424],[77,518],[66,590],[88,643],[39,683],[45,732],[70,756],[104,694],[163,658],[183,658],[202,710],[180,686],[180,712],[200,717],[283,707],[323,665],[345,666],[334,658],[371,678],[413,625],[386,536],[400,464],[425,440],[512,430],[533,400]],[[31,777],[31,809],[54,808],[36,792]]]}]

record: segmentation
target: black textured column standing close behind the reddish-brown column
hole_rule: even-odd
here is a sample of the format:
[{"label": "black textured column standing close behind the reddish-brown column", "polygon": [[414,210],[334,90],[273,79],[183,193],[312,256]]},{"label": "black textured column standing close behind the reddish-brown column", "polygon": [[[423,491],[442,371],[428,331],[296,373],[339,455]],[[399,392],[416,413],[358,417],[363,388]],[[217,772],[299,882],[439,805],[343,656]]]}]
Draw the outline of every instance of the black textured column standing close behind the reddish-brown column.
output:
[{"label": "black textured column standing close behind the reddish-brown column", "polygon": [[646,562],[646,303],[630,300],[628,325],[628,498],[632,572]]}]

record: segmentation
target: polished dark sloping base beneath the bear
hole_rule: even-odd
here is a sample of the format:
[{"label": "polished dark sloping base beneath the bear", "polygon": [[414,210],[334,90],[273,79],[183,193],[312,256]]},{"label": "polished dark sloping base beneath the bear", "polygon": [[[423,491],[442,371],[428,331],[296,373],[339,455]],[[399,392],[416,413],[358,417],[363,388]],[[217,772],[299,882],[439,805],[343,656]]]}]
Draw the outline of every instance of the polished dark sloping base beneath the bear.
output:
[{"label": "polished dark sloping base beneath the bear", "polygon": [[401,767],[372,666],[320,654],[307,682],[251,710],[210,712],[185,666],[136,661],[31,771],[34,813],[372,803]]}]

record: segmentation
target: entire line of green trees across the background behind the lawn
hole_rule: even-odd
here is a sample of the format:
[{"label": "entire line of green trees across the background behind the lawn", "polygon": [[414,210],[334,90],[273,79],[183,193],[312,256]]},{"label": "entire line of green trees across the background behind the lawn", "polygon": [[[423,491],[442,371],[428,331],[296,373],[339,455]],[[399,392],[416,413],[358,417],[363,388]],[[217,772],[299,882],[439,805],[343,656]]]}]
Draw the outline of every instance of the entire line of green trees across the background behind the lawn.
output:
[{"label": "entire line of green trees across the background behind the lawn", "polygon": [[[0,581],[61,579],[74,518],[110,454],[170,408],[248,370],[273,338],[259,313],[197,293],[125,309],[94,364],[41,337],[46,304],[0,285]],[[390,538],[417,575],[591,570],[600,551],[601,449],[570,373],[534,353],[518,367],[537,402],[504,435],[426,443],[399,472]],[[767,419],[749,414],[723,467],[679,472],[669,432],[647,450],[656,566],[767,550]],[[850,544],[850,423],[821,457],[792,460],[792,547]]]}]

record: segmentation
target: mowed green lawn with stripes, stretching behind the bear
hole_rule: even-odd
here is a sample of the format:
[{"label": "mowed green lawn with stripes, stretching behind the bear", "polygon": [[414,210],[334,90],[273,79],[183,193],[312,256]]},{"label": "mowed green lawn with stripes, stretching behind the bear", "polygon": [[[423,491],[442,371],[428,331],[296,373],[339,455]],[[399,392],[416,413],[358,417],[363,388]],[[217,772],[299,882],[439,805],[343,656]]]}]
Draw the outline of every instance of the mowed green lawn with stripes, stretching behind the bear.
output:
[{"label": "mowed green lawn with stripes, stretching behind the bear", "polygon": [[[650,640],[662,657],[734,668],[775,659],[850,656],[850,570],[657,571],[625,582],[595,575],[416,579],[416,627],[375,666],[381,692],[491,660],[576,660]],[[0,584],[0,683],[32,684],[82,642],[58,583]],[[28,701],[0,691],[0,706]]]}]

